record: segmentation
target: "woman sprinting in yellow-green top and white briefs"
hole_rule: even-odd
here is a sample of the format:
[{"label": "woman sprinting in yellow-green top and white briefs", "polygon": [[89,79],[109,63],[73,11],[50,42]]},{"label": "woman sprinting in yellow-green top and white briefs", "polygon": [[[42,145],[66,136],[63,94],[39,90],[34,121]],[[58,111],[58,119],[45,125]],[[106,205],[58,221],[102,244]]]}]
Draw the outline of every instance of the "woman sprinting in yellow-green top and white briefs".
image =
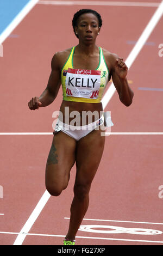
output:
[{"label": "woman sprinting in yellow-green top and white briefs", "polygon": [[[28,103],[31,110],[48,106],[57,97],[62,84],[60,112],[63,120],[58,120],[53,132],[45,182],[47,191],[52,196],[59,196],[67,187],[71,168],[76,162],[74,198],[64,245],[74,245],[89,206],[91,183],[103,154],[105,136],[101,136],[101,127],[104,126],[104,118],[100,113],[103,111],[101,100],[106,84],[112,76],[120,100],[126,106],[131,104],[134,95],[128,86],[128,68],[123,59],[96,45],[102,27],[101,15],[91,9],[79,10],[74,14],[72,25],[79,44],[54,54],[46,89],[40,97],[33,97]],[[66,107],[70,116],[72,111],[78,111],[81,121],[87,111],[99,113],[99,117],[94,117],[92,123],[86,119],[84,125],[76,125],[80,129],[74,130],[70,125],[72,117],[66,116]],[[98,126],[99,129],[95,129]]]}]

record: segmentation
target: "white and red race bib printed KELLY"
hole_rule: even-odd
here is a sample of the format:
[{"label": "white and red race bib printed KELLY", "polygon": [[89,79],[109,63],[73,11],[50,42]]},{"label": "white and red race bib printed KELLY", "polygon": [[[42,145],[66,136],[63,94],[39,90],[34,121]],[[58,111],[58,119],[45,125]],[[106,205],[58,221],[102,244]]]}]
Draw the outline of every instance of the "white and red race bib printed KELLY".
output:
[{"label": "white and red race bib printed KELLY", "polygon": [[97,99],[101,83],[100,70],[68,69],[66,74],[66,95]]}]

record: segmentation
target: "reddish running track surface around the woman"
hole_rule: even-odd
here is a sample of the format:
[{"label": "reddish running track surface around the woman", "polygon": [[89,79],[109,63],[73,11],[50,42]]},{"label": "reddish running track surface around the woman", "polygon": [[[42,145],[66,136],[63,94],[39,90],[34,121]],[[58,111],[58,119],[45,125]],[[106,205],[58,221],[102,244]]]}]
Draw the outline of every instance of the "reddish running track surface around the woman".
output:
[{"label": "reddish running track surface around the woman", "polygon": [[[152,7],[153,2],[148,1],[149,7],[135,7],[122,6],[122,1],[117,6],[65,6],[48,2],[55,3],[40,1],[3,41],[1,245],[62,245],[67,232],[74,167],[67,190],[55,198],[46,194],[47,202],[43,202],[34,223],[27,222],[46,191],[45,164],[53,137],[52,113],[59,110],[61,90],[53,104],[40,111],[29,111],[27,103],[45,89],[53,54],[77,44],[71,27],[73,14],[81,8],[101,13],[103,27],[98,45],[126,60],[160,3],[155,1],[158,4]],[[135,94],[133,104],[123,106],[117,93],[112,93],[105,106],[105,110],[111,111],[114,126],[106,137],[103,158],[91,188],[89,210],[82,223],[89,230],[78,231],[78,245],[163,244],[163,196],[159,190],[163,187],[163,57],[158,54],[162,26],[161,16],[133,63],[129,62],[128,80]],[[111,82],[108,88],[110,85]],[[28,234],[19,234],[26,223]],[[96,233],[90,225],[98,225],[92,227]]]}]

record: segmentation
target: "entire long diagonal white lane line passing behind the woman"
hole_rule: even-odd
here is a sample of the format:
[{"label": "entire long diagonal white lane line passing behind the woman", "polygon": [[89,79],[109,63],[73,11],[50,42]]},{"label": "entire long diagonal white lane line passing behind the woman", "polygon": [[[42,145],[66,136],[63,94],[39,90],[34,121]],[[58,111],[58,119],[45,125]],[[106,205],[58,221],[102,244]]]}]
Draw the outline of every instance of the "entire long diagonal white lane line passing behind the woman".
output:
[{"label": "entire long diagonal white lane line passing behind the woman", "polygon": [[[145,30],[143,31],[142,35],[140,36],[139,40],[137,41],[136,45],[134,46],[133,50],[131,51],[131,53],[129,54],[129,57],[127,59],[127,63],[128,66],[130,66],[135,58],[137,57],[137,54],[139,54],[141,48],[143,47],[143,45],[145,44],[147,38],[149,37],[149,35],[152,33],[154,27],[156,26],[156,24],[158,23],[161,15],[163,13],[163,1],[161,2],[161,4],[159,5],[158,9],[156,9],[154,15],[152,16],[152,19],[148,22],[147,27],[145,28]],[[150,25],[150,26],[149,26]],[[114,94],[114,92],[111,94],[111,96]],[[107,96],[106,96],[107,95]],[[111,97],[108,96],[108,92],[106,92],[105,94],[105,99],[104,99],[104,105],[106,106],[109,102],[109,100],[111,99]],[[34,211],[32,212],[32,214],[29,216],[27,222],[24,224],[21,233],[28,233],[28,231],[30,230],[30,228],[32,228],[32,225],[34,224],[36,218],[39,216],[41,210],[43,209],[43,207],[45,206],[45,204],[47,203],[48,199],[49,199],[49,193],[47,191],[45,191],[45,193],[43,194],[43,196],[41,197],[39,203],[37,203]],[[14,245],[22,245],[24,239],[26,237],[26,234],[18,234]],[[93,237],[93,239],[95,239],[95,237]],[[96,239],[98,239],[96,237]],[[99,238],[101,239],[101,238]],[[111,240],[111,239],[108,239]],[[113,239],[114,240],[114,239]],[[123,239],[124,241],[124,239]],[[157,241],[158,242],[158,241]],[[162,243],[162,241],[160,241]]]}]

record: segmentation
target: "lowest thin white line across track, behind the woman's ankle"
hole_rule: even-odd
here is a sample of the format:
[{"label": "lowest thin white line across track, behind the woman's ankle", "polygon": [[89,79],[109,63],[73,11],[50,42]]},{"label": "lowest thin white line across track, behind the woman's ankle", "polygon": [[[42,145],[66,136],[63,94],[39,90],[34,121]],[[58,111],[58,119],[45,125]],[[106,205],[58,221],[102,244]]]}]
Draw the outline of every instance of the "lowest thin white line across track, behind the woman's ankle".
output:
[{"label": "lowest thin white line across track, behind the woman's ankle", "polygon": [[[17,232],[4,232],[0,231],[0,234],[11,234],[11,235],[22,235]],[[52,237],[65,237],[66,235],[53,235],[53,234],[35,234],[35,233],[26,233],[23,235],[33,235],[33,236],[52,236]],[[114,241],[130,241],[130,242],[151,242],[151,243],[163,243],[163,241],[153,241],[153,240],[137,240],[137,239],[121,239],[121,238],[108,238],[108,237],[96,237],[96,236],[76,236],[76,238],[83,239],[100,239],[100,240],[114,240]]]}]

